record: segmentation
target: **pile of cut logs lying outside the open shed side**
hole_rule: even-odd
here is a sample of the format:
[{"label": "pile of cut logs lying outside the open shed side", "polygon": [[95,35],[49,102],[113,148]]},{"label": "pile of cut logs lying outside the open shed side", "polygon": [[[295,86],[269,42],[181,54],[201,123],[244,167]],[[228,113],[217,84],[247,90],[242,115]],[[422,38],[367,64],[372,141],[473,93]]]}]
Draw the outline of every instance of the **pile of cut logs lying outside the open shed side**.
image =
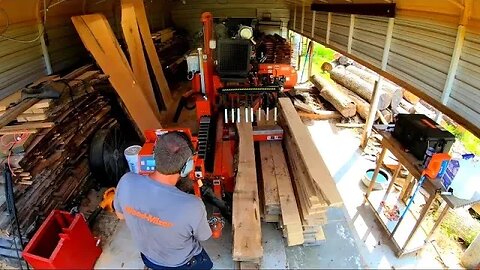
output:
[{"label": "pile of cut logs lying outside the open shed side", "polygon": [[[309,89],[309,91],[318,91],[319,95],[341,115],[340,117],[351,118],[358,115],[358,120],[366,120],[369,115],[370,103],[375,82],[378,80],[378,74],[360,67],[344,56],[332,63],[326,62],[324,65],[328,66],[328,68],[324,68],[328,75],[313,75],[310,78],[310,82],[315,88]],[[420,99],[418,97],[387,79],[383,80],[379,91],[379,103],[375,120],[380,121],[382,124],[392,123],[394,116],[398,113],[429,113],[429,110],[419,102]],[[298,105],[296,107],[302,110]],[[315,113],[325,114],[325,112]],[[327,115],[331,117],[326,116],[323,118],[339,117],[331,112]],[[317,118],[322,119],[321,117]]]}]

